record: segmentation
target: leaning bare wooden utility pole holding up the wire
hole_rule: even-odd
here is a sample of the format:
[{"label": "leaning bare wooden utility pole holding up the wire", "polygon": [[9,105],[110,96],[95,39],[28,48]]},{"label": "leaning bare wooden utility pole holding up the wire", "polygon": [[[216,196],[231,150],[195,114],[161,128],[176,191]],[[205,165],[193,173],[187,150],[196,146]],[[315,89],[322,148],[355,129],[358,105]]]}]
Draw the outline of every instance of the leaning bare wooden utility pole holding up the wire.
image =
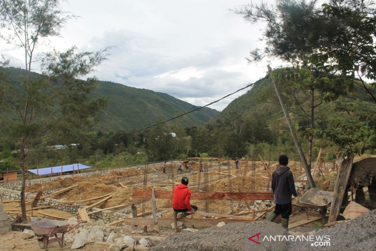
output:
[{"label": "leaning bare wooden utility pole holding up the wire", "polygon": [[[271,72],[271,68],[270,67],[269,67],[269,71]],[[281,94],[281,92],[279,90],[279,87],[277,85],[276,80],[274,78],[272,78],[271,82],[274,85],[274,89],[276,89],[276,93],[277,93],[277,96],[278,96],[278,99],[279,99],[279,103],[281,104],[282,111],[283,111],[283,113],[285,115],[285,119],[286,119],[288,128],[290,129],[290,132],[291,132],[291,134],[293,136],[296,149],[299,152],[300,160],[302,160],[304,171],[305,171],[305,173],[307,175],[308,184],[309,184],[309,186],[311,188],[314,188],[314,187],[316,187],[315,182],[313,181],[313,178],[312,178],[312,175],[311,175],[311,171],[308,168],[307,160],[306,160],[306,158],[304,156],[304,153],[303,153],[303,150],[302,150],[302,146],[300,146],[299,139],[298,139],[298,137],[296,135],[296,132],[295,132],[295,129],[294,129],[294,126],[293,126],[293,122],[291,122],[290,115],[288,114],[288,111],[286,109],[285,103],[284,103],[284,101],[282,99],[282,94]]]}]

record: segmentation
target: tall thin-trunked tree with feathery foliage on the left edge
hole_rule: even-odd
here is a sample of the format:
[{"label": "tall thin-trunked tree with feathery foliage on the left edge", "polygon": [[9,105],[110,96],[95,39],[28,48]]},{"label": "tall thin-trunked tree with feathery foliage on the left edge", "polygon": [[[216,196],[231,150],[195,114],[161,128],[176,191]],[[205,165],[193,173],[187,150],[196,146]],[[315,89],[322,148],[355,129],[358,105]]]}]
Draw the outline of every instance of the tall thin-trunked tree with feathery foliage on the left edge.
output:
[{"label": "tall thin-trunked tree with feathery foliage on the left edge", "polygon": [[[42,75],[32,76],[32,65],[40,59],[37,48],[46,39],[60,35],[60,30],[73,15],[62,11],[58,0],[2,0],[0,2],[1,38],[24,52],[23,84],[16,86],[8,79],[0,82],[2,110],[13,111],[6,118],[0,112],[1,125],[18,140],[22,171],[21,211],[26,220],[26,161],[38,138],[54,129],[78,128],[88,123],[105,103],[105,99],[90,99],[94,78],[78,80],[105,60],[108,48],[98,52],[45,53],[39,61]],[[39,55],[41,56],[41,55]],[[6,69],[4,69],[6,72]]]}]

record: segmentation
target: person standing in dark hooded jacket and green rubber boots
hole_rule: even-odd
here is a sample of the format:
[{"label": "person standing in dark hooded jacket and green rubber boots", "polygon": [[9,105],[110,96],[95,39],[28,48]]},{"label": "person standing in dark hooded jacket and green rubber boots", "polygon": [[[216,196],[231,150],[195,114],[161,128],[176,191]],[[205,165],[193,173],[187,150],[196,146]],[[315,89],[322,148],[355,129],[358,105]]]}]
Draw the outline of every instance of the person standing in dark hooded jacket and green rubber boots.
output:
[{"label": "person standing in dark hooded jacket and green rubber boots", "polygon": [[274,221],[281,214],[281,224],[288,230],[288,220],[291,215],[291,195],[298,196],[295,189],[294,176],[287,166],[288,158],[286,155],[280,155],[278,158],[279,166],[274,170],[271,176],[271,189],[273,190],[276,208],[274,212],[268,215],[267,221]]}]

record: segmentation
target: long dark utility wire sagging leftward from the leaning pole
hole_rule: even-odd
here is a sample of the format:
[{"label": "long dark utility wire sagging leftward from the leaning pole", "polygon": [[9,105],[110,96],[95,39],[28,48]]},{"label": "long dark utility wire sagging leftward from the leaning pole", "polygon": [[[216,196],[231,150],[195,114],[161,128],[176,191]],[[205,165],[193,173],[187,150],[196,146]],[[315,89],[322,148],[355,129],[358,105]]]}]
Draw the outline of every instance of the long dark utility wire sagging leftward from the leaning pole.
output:
[{"label": "long dark utility wire sagging leftward from the leaning pole", "polygon": [[[106,142],[109,142],[109,141],[112,141],[112,140],[117,140],[118,138],[126,137],[126,136],[128,136],[128,135],[132,135],[132,134],[134,134],[134,133],[136,133],[136,132],[141,132],[141,131],[144,131],[144,130],[146,130],[146,129],[152,128],[152,127],[154,127],[154,126],[158,126],[158,125],[161,125],[161,124],[167,123],[167,122],[169,122],[169,121],[171,121],[171,120],[177,119],[177,118],[179,118],[179,117],[185,116],[186,114],[193,113],[194,111],[197,111],[197,110],[199,110],[199,109],[201,109],[201,108],[204,108],[204,107],[206,107],[206,106],[209,106],[209,105],[212,105],[212,104],[214,104],[214,103],[217,103],[217,102],[221,101],[222,99],[225,99],[226,97],[229,97],[229,96],[231,96],[231,95],[233,95],[233,94],[235,94],[235,93],[238,93],[239,91],[242,91],[242,90],[244,90],[244,89],[246,89],[246,88],[248,88],[248,87],[251,87],[251,86],[257,84],[258,82],[260,82],[260,81],[262,81],[262,80],[264,80],[264,79],[267,79],[268,77],[269,77],[269,75],[265,76],[265,77],[262,78],[262,79],[259,79],[258,81],[254,82],[254,83],[252,83],[252,84],[248,84],[248,85],[246,85],[245,87],[240,88],[240,89],[237,90],[237,91],[234,91],[233,93],[227,94],[226,96],[221,97],[221,98],[218,99],[218,100],[215,100],[215,101],[213,101],[213,102],[211,102],[211,103],[208,103],[207,105],[200,106],[200,107],[198,107],[198,108],[196,108],[196,109],[194,109],[194,110],[191,110],[191,111],[188,111],[188,112],[186,112],[186,113],[180,114],[180,115],[178,115],[178,116],[176,116],[176,117],[173,117],[173,118],[171,118],[171,119],[168,119],[168,120],[165,120],[165,121],[162,121],[162,122],[156,123],[156,124],[154,124],[154,125],[151,125],[151,126],[145,127],[145,128],[143,128],[143,129],[139,129],[139,130],[136,130],[136,131],[133,131],[133,132],[129,132],[129,133],[127,133],[127,134],[120,135],[120,136],[115,137],[115,138],[110,138],[110,139],[108,139],[108,140],[99,141],[99,142],[96,142],[96,143],[90,143],[90,144],[81,145],[81,146],[75,146],[75,147],[71,147],[71,148],[29,150],[28,152],[45,152],[45,151],[55,151],[55,150],[68,150],[68,149],[74,149],[74,148],[79,148],[79,147],[98,145],[98,144],[106,143]],[[13,151],[13,150],[2,149],[2,148],[0,148],[0,150],[3,150],[3,151]]]}]

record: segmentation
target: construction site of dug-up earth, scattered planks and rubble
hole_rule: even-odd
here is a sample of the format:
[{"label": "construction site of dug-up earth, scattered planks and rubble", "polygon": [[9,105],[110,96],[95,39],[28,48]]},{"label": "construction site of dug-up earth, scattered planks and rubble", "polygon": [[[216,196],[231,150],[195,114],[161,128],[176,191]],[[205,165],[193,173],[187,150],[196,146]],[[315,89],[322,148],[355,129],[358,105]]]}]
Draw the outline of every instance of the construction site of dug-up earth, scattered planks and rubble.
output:
[{"label": "construction site of dug-up earth, scattered planks and rubble", "polygon": [[[275,207],[271,173],[277,161],[265,163],[260,155],[258,161],[241,160],[238,169],[233,160],[193,158],[183,161],[189,164],[183,172],[177,172],[178,161],[169,161],[165,173],[163,163],[154,163],[29,179],[27,222],[20,217],[20,181],[3,183],[0,250],[374,250],[376,158],[344,162],[327,162],[320,151],[312,164],[319,192],[309,199],[324,201],[306,202],[302,164],[289,161],[298,197],[288,232],[280,216],[265,221]],[[180,219],[171,200],[183,176],[198,211]],[[32,222],[44,219],[51,231],[32,231]],[[65,228],[55,234],[53,224]],[[268,236],[293,237],[271,241]],[[329,245],[302,241],[311,236],[329,236],[322,241]]]}]

